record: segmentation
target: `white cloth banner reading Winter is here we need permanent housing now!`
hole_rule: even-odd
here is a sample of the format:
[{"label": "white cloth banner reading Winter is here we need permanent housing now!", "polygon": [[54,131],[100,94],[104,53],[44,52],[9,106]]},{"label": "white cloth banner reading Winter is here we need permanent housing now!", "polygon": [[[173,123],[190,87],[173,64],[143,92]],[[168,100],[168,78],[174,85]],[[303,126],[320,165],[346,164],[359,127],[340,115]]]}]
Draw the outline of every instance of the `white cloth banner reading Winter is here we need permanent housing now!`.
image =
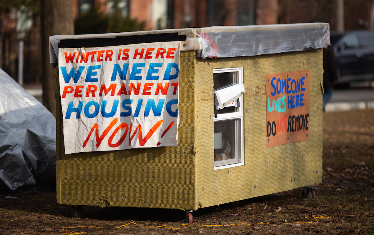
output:
[{"label": "white cloth banner reading Winter is here we need permanent housing now!", "polygon": [[59,48],[65,154],[178,145],[179,47]]}]

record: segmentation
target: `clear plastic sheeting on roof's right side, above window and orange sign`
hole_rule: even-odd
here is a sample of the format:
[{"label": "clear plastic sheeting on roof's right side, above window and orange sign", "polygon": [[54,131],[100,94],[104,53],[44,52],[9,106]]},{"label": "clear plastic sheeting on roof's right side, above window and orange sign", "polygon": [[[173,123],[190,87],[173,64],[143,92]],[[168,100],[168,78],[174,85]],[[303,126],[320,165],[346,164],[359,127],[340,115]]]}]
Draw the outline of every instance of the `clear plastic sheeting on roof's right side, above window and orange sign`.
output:
[{"label": "clear plastic sheeting on roof's right side, above window and orange sign", "polygon": [[203,38],[197,55],[203,59],[295,52],[330,44],[327,23],[209,27],[196,33]]}]

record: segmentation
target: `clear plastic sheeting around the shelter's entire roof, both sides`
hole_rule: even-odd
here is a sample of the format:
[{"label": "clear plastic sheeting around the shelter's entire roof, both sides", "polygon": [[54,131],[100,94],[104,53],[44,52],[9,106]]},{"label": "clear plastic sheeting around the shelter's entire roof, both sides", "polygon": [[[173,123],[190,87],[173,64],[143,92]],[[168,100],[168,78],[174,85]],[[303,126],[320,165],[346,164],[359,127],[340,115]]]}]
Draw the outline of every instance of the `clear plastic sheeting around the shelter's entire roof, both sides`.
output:
[{"label": "clear plastic sheeting around the shelter's entire roof, both sides", "polygon": [[53,35],[49,37],[50,62],[57,63],[62,39],[114,38],[160,33],[186,35],[181,51],[196,50],[200,58],[230,58],[325,48],[330,44],[328,23],[214,26],[110,34]]}]

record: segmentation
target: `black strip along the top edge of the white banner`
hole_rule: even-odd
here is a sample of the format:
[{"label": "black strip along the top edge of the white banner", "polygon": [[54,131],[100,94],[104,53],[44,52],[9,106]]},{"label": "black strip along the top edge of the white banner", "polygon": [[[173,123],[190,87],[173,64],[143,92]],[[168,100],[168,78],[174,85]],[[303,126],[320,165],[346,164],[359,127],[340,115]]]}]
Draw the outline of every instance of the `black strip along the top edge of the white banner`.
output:
[{"label": "black strip along the top edge of the white banner", "polygon": [[58,43],[58,48],[119,46],[164,41],[186,41],[186,39],[186,35],[178,35],[178,33],[129,35],[114,38],[61,39]]}]

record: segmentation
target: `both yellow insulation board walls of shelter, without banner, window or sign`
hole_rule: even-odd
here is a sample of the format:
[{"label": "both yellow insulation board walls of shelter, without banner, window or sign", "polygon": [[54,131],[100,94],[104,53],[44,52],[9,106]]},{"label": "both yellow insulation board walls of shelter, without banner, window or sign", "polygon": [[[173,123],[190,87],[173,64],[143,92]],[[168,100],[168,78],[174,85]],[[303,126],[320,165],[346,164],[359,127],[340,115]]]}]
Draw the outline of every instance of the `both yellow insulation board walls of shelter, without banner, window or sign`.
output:
[{"label": "both yellow insulation board walls of shelter, without banner, window or sign", "polygon": [[[194,55],[181,52],[178,146],[65,155],[57,91],[58,203],[196,210],[321,182],[322,50],[231,59]],[[233,67],[243,67],[246,90],[244,165],[214,170],[213,69]],[[265,76],[304,69],[310,70],[310,139],[265,148]]]}]

